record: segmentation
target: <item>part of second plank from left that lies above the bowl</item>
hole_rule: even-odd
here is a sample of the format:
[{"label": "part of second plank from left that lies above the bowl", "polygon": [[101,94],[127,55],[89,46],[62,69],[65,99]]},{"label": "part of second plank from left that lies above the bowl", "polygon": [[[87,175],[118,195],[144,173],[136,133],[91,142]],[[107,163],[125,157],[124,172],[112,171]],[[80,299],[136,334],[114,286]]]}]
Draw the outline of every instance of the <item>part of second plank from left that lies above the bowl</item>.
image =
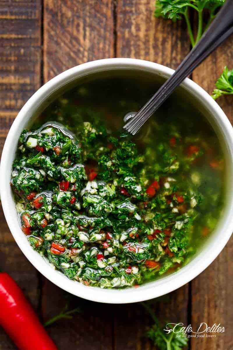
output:
[{"label": "part of second plank from left that lies above the bowl", "polygon": [[113,0],[44,0],[44,79],[114,56]]}]

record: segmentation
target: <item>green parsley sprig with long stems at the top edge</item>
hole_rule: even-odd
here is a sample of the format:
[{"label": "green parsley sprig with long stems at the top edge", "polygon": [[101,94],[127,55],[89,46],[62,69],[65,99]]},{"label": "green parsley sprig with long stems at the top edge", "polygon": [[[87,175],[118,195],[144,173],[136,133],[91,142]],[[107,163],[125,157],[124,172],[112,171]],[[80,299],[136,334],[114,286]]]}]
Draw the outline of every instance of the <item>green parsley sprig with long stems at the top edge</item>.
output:
[{"label": "green parsley sprig with long stems at the top edge", "polygon": [[[194,47],[216,16],[218,8],[223,5],[224,1],[225,0],[156,0],[154,14],[156,17],[162,16],[163,18],[172,19],[173,21],[180,20],[184,17],[187,23],[191,44],[192,47]],[[194,9],[198,13],[196,37],[194,37],[194,31],[192,30],[190,22],[190,9]],[[209,12],[209,19],[206,25],[204,25],[203,21],[204,9]]]}]

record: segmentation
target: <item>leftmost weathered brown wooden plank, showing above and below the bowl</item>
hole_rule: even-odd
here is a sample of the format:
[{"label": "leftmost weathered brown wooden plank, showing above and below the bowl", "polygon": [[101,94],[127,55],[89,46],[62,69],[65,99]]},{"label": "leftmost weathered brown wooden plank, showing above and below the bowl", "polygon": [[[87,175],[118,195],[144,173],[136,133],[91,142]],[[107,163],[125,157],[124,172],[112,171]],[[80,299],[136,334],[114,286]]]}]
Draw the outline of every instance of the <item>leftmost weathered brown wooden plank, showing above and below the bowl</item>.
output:
[{"label": "leftmost weathered brown wooden plank, showing above and below the bowl", "polygon": [[[19,109],[40,86],[40,65],[41,0],[1,0],[0,152]],[[5,222],[2,209],[0,209],[0,216],[0,267],[19,283],[34,308],[37,309],[38,273],[16,245]],[[16,349],[2,329],[0,329],[0,349]]]}]

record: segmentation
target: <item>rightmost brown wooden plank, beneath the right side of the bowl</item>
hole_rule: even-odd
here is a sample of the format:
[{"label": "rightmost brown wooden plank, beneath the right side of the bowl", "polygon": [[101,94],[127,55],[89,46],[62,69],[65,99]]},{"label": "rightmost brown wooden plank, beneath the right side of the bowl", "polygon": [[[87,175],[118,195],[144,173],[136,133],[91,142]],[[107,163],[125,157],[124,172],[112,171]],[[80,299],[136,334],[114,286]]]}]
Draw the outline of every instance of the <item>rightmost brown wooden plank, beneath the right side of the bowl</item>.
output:
[{"label": "rightmost brown wooden plank, beneath the right side of the bowl", "polygon": [[[208,57],[192,74],[193,80],[211,93],[214,83],[227,64],[233,68],[232,38]],[[231,96],[217,100],[227,117],[233,123],[233,99]],[[198,328],[200,322],[209,326],[221,323],[225,327],[224,333],[216,333],[213,338],[194,338],[191,349],[222,350],[232,349],[233,328],[233,271],[230,268],[233,256],[233,239],[231,238],[223,252],[197,278],[192,281],[192,327]],[[213,333],[212,333],[213,334]]]}]

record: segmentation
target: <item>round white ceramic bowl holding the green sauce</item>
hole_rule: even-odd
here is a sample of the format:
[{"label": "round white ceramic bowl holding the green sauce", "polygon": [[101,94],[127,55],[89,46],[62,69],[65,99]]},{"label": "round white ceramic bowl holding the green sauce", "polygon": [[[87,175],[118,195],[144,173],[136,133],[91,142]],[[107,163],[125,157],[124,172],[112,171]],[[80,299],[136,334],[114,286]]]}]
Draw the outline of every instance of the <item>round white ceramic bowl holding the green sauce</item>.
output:
[{"label": "round white ceramic bowl holding the green sauce", "polygon": [[[138,288],[132,287],[122,290],[87,287],[82,285],[82,283],[69,280],[59,271],[55,271],[45,259],[32,250],[27,237],[20,229],[15,210],[15,203],[9,185],[12,172],[12,162],[15,157],[19,136],[22,130],[27,126],[30,118],[38,111],[39,106],[46,98],[48,98],[48,96],[51,95],[51,93],[83,75],[100,70],[103,71],[119,68],[142,70],[164,77],[169,77],[174,72],[170,68],[148,61],[131,58],[110,58],[84,63],[59,74],[57,77],[43,85],[28,100],[15,118],[3,148],[0,165],[0,194],[2,208],[9,229],[24,255],[26,255],[28,260],[38,269],[39,272],[60,288],[82,298],[104,303],[130,303],[152,299],[183,286],[201,273],[217,257],[230,238],[233,228],[233,129],[224,112],[209,94],[200,86],[192,82],[192,80],[185,79],[182,86],[192,94],[193,98],[201,105],[201,108],[205,110],[205,115],[207,115],[207,118],[221,141],[226,160],[225,181],[227,191],[225,195],[225,209],[216,229],[211,237],[206,240],[202,250],[199,251],[186,266],[176,273],[163,277],[157,281],[146,283]],[[187,121],[184,120],[184,122]]]}]

